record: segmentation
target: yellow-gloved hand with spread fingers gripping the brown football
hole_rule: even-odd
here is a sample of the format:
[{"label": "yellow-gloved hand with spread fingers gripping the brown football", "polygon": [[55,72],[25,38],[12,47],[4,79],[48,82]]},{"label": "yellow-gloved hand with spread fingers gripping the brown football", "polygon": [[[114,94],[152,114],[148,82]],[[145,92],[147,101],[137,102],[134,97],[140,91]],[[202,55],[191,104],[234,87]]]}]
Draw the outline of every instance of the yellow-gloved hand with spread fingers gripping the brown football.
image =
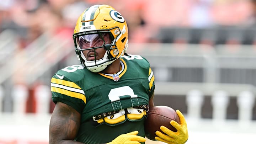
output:
[{"label": "yellow-gloved hand with spread fingers gripping the brown football", "polygon": [[188,131],[187,131],[187,122],[183,116],[183,114],[177,110],[178,117],[180,118],[180,124],[175,121],[171,121],[170,124],[177,129],[177,132],[173,132],[165,126],[161,126],[160,129],[165,134],[156,131],[155,137],[156,140],[161,142],[165,142],[167,144],[184,144],[188,139]]}]

